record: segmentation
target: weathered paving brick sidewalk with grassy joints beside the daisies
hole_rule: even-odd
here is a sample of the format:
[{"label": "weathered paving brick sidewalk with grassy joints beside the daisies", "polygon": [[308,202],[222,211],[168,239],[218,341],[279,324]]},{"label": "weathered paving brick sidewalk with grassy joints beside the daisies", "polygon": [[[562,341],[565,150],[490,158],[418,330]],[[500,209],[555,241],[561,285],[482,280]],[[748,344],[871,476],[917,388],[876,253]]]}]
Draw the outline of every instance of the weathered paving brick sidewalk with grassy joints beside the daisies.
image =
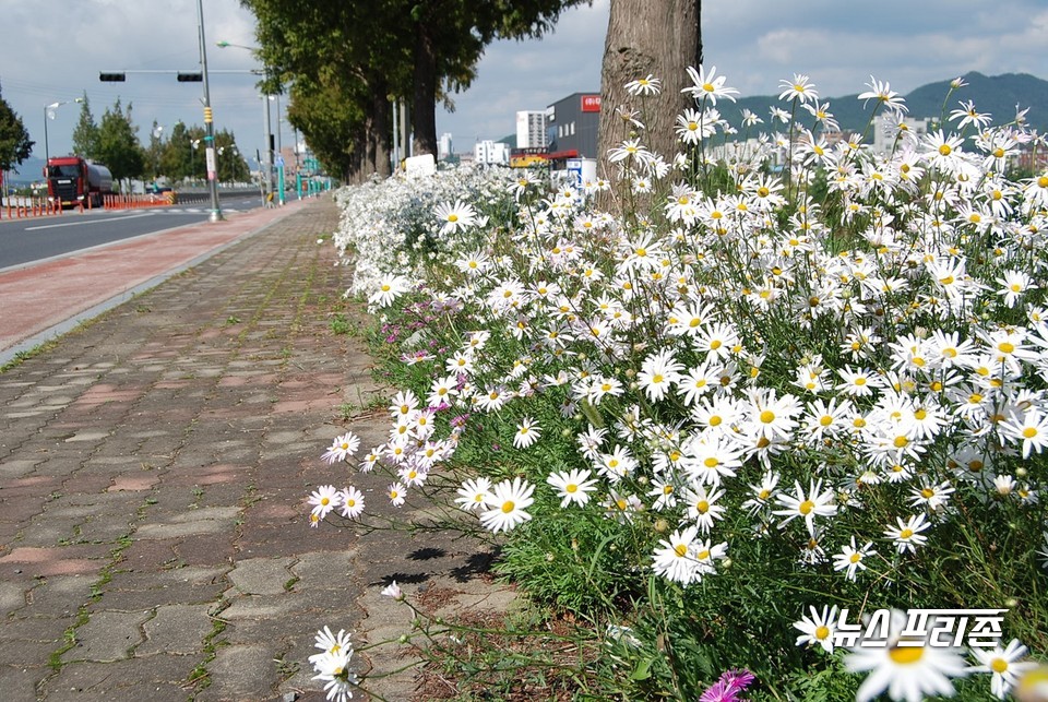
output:
[{"label": "weathered paving brick sidewalk with grassy joints beside the daisies", "polygon": [[[384,391],[330,329],[347,269],[317,238],[336,222],[306,205],[0,374],[5,702],[323,699],[317,628],[406,630],[391,579],[502,606],[461,542],[308,526],[309,490],[347,479],[319,460],[331,438],[386,432],[340,416]],[[403,663],[377,651],[360,673]]]}]

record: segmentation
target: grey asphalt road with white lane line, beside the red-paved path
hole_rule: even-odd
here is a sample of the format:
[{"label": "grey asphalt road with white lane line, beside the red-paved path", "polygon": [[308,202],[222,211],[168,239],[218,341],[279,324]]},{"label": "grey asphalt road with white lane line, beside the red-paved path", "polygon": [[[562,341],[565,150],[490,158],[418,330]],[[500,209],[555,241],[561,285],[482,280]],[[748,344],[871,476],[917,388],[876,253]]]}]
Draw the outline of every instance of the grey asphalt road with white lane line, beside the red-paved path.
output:
[{"label": "grey asphalt road with white lane line, beside the red-paved path", "polygon": [[[226,194],[224,211],[251,210],[258,194]],[[7,213],[4,213],[7,214]],[[67,211],[50,217],[0,219],[0,270],[26,265],[74,251],[154,234],[207,219],[210,203],[142,210]]]}]

